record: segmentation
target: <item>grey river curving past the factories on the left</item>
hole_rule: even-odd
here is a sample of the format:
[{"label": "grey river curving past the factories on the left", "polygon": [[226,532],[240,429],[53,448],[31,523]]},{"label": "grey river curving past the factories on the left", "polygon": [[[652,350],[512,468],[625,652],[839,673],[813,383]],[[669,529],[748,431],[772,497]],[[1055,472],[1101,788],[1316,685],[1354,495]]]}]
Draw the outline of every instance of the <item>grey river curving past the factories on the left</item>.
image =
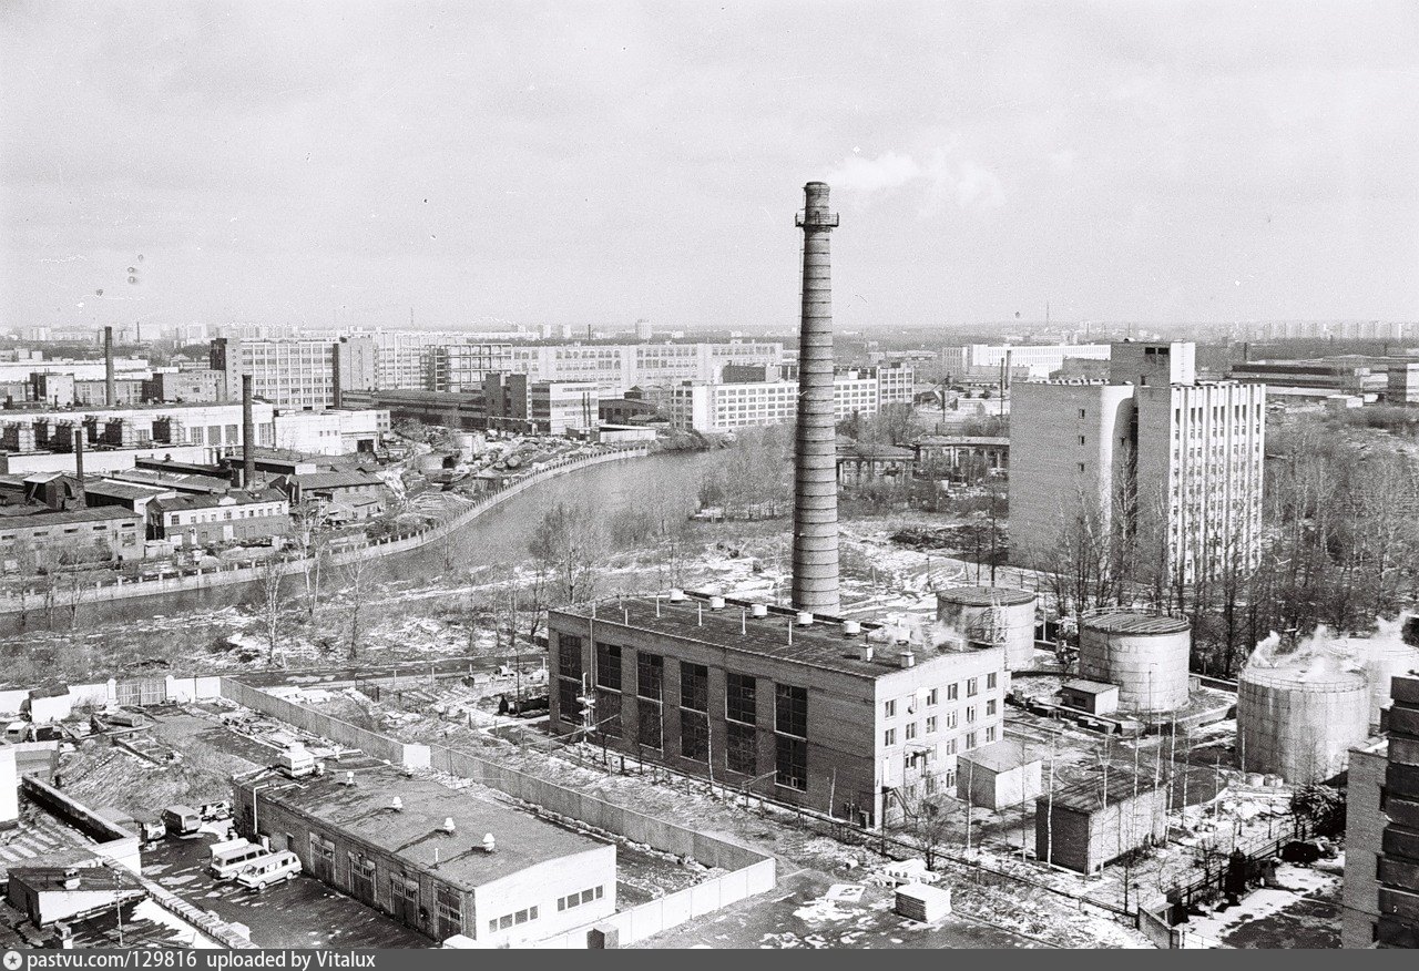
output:
[{"label": "grey river curving past the factories on the left", "polygon": [[[694,511],[700,481],[714,467],[712,451],[667,451],[644,459],[627,459],[590,466],[556,476],[512,495],[455,531],[448,541],[434,541],[427,547],[377,561],[379,572],[400,581],[431,582],[446,571],[453,559],[458,571],[504,564],[518,564],[526,558],[532,538],[543,512],[558,503],[580,505],[589,514],[610,524],[658,483],[668,483],[673,494],[683,501],[685,515]],[[299,575],[288,579],[294,591],[302,583]],[[254,583],[214,586],[133,600],[87,603],[79,608],[79,626],[111,622],[140,623],[153,615],[173,616],[189,610],[207,610],[240,603],[257,595]],[[65,612],[57,612],[55,626],[68,625]],[[16,635],[26,629],[47,626],[43,609],[0,616],[0,635]]]}]

